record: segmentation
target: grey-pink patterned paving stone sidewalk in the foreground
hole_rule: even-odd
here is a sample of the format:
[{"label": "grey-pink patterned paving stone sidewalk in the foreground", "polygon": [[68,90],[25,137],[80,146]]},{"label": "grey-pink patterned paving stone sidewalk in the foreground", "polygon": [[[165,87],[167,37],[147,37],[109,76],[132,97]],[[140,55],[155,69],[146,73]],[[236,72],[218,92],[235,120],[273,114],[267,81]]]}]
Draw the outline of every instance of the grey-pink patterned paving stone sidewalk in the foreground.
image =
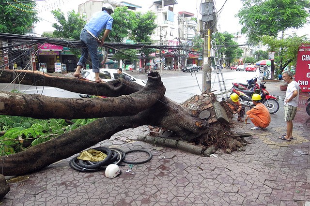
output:
[{"label": "grey-pink patterned paving stone sidewalk in the foreground", "polygon": [[[245,151],[217,157],[202,157],[168,147],[137,141],[148,127],[118,132],[94,147],[152,152],[150,162],[121,167],[119,177],[109,179],[104,171],[82,173],[70,168],[71,158],[10,182],[3,206],[304,206],[310,201],[310,116],[299,105],[294,120],[294,140],[279,140],[285,133],[284,91],[279,82],[267,82],[267,90],[279,96],[280,109],[271,115],[264,131],[251,131],[252,124],[237,121],[235,131],[251,133]],[[300,96],[300,103],[308,93]],[[130,158],[138,157],[132,153]],[[128,157],[129,158],[129,157]],[[29,178],[27,178],[29,177]]]}]

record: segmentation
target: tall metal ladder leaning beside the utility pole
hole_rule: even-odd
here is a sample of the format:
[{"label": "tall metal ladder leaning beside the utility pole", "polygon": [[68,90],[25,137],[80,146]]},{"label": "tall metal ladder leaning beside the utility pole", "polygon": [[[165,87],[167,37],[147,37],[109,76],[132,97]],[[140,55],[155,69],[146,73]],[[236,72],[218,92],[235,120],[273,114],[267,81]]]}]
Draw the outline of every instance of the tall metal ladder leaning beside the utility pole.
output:
[{"label": "tall metal ladder leaning beside the utility pole", "polygon": [[[219,89],[222,95],[222,101],[228,99],[228,94],[227,94],[227,89],[226,89],[226,85],[225,85],[225,80],[223,77],[223,73],[222,73],[222,65],[219,62],[219,58],[218,58],[218,52],[217,52],[217,44],[214,40],[211,40],[211,52],[210,52],[210,57],[214,57],[214,61],[215,61],[215,68],[217,71],[217,80],[218,80],[218,85],[219,85]],[[226,97],[224,97],[224,94],[226,94]]]}]

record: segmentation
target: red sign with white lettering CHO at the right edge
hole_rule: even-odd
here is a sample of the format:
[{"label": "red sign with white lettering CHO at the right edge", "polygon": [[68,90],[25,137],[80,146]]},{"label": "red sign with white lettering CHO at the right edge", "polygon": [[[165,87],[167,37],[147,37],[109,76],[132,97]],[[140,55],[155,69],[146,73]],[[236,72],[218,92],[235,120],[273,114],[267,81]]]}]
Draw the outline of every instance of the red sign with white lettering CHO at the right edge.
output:
[{"label": "red sign with white lettering CHO at the right edge", "polygon": [[310,45],[303,44],[297,53],[295,81],[303,92],[310,91]]}]

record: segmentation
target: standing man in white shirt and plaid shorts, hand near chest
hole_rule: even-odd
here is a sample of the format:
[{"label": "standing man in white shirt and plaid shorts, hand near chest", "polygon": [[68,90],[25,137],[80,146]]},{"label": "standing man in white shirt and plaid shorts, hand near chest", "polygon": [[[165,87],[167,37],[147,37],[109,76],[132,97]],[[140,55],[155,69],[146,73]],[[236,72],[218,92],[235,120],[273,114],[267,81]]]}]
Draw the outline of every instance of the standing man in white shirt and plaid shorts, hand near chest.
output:
[{"label": "standing man in white shirt and plaid shorts, hand near chest", "polygon": [[293,119],[296,115],[298,98],[301,88],[293,80],[293,74],[286,71],[282,74],[284,82],[288,83],[284,99],[284,119],[286,121],[286,133],[282,134],[279,139],[291,141],[293,139]]}]

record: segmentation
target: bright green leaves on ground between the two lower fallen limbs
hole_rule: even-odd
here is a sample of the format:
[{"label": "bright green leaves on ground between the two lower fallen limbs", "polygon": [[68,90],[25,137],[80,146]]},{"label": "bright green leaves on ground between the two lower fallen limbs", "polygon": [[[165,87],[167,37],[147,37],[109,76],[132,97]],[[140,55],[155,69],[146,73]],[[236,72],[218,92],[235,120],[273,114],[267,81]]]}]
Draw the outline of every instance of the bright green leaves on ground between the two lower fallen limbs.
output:
[{"label": "bright green leaves on ground between the two lower fallen limbs", "polygon": [[73,124],[64,119],[33,119],[15,116],[0,116],[0,156],[14,154],[28,147],[56,138],[64,132],[70,132],[93,119],[74,119]]}]

